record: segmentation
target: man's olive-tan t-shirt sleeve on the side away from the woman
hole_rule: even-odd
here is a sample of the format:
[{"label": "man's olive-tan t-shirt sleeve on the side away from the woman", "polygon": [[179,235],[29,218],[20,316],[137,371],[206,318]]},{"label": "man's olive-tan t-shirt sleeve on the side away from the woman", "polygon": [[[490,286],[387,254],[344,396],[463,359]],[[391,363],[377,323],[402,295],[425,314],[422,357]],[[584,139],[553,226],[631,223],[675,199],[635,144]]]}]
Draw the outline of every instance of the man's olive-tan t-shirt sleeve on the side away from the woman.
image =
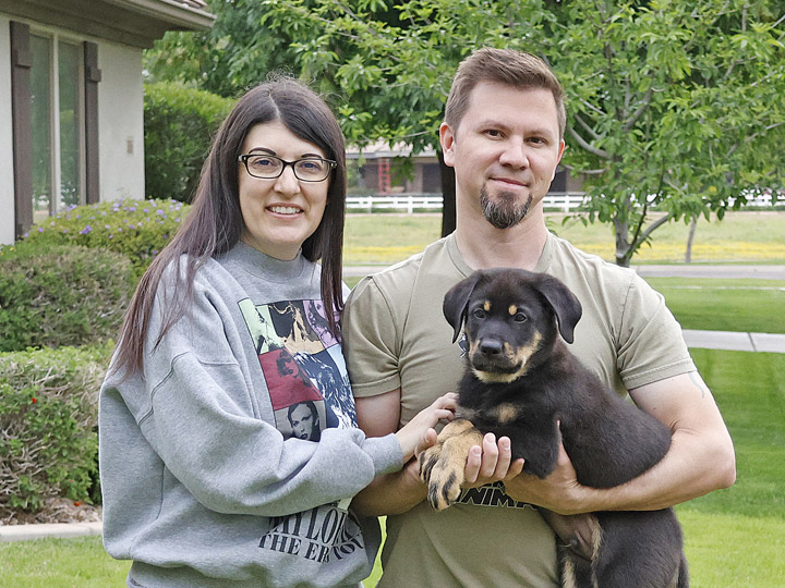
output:
[{"label": "man's olive-tan t-shirt sleeve on the side away from the woman", "polygon": [[627,389],[696,369],[665,298],[638,275],[629,284],[619,320],[618,369]]}]

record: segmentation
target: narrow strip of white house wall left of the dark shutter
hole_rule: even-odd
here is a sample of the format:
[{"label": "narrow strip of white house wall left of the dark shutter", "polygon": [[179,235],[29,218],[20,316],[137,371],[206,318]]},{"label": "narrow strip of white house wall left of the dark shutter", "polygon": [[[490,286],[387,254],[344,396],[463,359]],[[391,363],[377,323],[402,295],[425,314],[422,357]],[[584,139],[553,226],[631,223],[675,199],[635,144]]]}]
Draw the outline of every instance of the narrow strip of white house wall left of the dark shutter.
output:
[{"label": "narrow strip of white house wall left of the dark shutter", "polygon": [[11,124],[11,30],[9,20],[0,15],[0,244],[14,242]]}]

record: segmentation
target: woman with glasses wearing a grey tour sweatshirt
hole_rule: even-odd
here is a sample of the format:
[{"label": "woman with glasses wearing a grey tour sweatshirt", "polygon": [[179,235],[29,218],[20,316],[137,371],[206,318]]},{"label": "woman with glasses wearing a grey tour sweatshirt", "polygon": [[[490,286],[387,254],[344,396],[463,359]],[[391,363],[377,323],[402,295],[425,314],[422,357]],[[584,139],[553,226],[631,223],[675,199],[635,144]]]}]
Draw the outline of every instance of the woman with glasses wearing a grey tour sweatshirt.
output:
[{"label": "woman with glasses wearing a grey tour sweatshirt", "polygon": [[348,503],[455,397],[396,434],[357,428],[336,319],[345,198],[343,137],[313,91],[280,79],[240,99],[101,388],[104,539],[133,560],[129,586],[358,586],[371,572],[378,526]]}]

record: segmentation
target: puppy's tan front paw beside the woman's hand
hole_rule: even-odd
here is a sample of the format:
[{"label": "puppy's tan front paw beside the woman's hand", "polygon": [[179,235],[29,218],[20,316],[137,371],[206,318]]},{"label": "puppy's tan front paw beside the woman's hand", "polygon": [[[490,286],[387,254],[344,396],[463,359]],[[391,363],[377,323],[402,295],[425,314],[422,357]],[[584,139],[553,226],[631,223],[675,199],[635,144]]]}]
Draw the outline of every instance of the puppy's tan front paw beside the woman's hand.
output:
[{"label": "puppy's tan front paw beside the woman's hand", "polygon": [[428,502],[437,511],[460,495],[469,450],[482,445],[482,433],[466,419],[447,424],[434,446],[420,454],[420,478],[428,485]]}]

